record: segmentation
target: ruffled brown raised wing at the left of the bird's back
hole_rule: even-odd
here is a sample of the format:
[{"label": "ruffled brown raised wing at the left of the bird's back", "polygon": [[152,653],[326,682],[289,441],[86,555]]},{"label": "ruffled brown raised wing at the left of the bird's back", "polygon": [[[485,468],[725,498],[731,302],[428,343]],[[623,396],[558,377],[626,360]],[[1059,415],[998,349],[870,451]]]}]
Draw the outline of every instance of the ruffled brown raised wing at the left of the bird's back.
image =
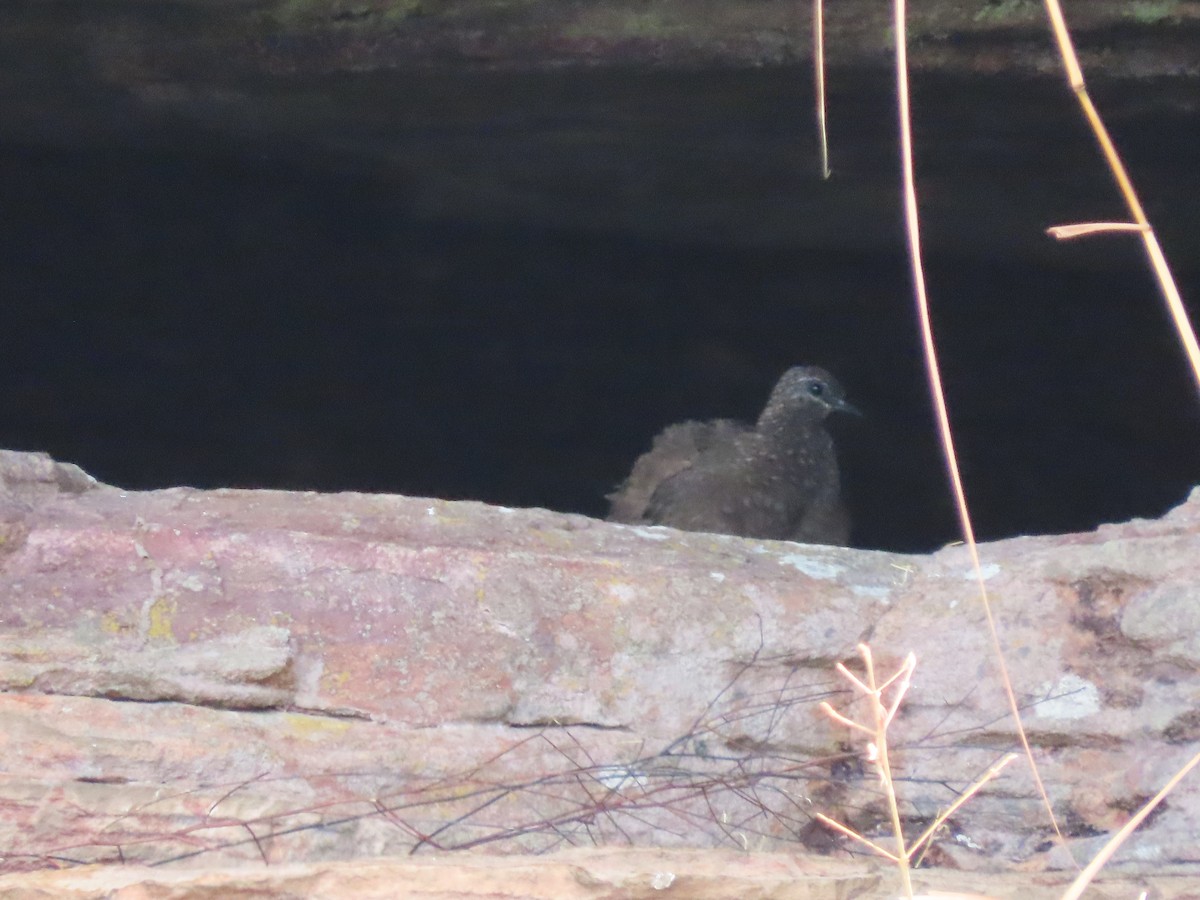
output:
[{"label": "ruffled brown raised wing at the left of the bird's back", "polygon": [[665,481],[692,467],[702,454],[731,444],[745,431],[744,425],[730,419],[686,421],[664,428],[650,449],[637,457],[629,478],[608,494],[608,521],[647,521],[650,498]]}]

